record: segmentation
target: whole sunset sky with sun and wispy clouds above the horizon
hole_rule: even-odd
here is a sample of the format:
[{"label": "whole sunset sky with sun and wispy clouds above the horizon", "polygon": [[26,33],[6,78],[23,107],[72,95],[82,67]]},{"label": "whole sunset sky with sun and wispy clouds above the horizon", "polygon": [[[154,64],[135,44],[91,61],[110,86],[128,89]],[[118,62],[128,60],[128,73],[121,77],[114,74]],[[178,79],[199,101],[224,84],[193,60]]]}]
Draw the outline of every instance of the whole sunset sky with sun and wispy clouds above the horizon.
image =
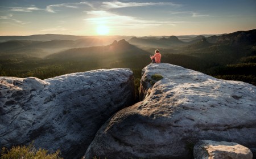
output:
[{"label": "whole sunset sky with sun and wispy clouds above the horizon", "polygon": [[0,36],[216,35],[256,29],[255,0],[0,0]]}]

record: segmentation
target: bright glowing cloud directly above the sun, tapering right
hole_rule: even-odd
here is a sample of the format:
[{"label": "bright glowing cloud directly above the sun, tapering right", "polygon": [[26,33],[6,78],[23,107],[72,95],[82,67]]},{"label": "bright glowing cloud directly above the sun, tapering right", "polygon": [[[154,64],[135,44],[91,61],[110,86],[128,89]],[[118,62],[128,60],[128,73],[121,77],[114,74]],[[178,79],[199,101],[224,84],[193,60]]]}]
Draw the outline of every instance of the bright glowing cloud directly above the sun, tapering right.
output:
[{"label": "bright glowing cloud directly above the sun, tapering right", "polygon": [[112,28],[144,28],[146,26],[159,26],[159,25],[176,25],[177,23],[186,22],[159,22],[155,20],[143,20],[133,16],[117,15],[108,11],[87,11],[88,15],[94,16],[93,18],[86,18],[84,21],[93,25],[109,25]]}]

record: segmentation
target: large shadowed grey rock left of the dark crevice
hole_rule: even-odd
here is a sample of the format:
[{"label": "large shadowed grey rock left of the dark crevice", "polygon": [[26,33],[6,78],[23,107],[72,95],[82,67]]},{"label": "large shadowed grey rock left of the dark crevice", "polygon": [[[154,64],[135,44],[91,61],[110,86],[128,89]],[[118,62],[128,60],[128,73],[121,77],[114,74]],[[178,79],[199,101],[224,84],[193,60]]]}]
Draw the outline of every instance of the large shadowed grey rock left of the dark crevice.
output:
[{"label": "large shadowed grey rock left of the dark crevice", "polygon": [[0,147],[28,144],[81,158],[97,130],[134,104],[126,68],[36,78],[0,78]]}]

